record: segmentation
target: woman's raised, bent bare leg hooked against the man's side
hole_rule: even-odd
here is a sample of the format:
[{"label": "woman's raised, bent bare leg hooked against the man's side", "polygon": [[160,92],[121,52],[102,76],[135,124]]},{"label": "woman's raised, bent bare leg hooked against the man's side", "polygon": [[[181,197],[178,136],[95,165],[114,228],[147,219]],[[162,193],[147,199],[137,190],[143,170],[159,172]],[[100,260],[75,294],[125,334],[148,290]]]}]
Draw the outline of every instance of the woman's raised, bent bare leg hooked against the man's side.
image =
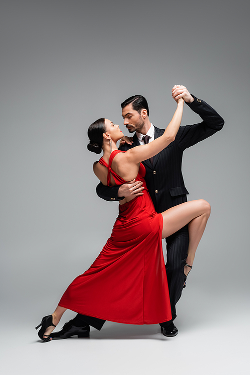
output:
[{"label": "woman's raised, bent bare leg hooked against the man's side", "polygon": [[[189,245],[186,263],[192,266],[195,251],[210,215],[210,205],[203,199],[181,203],[161,213],[163,217],[162,238],[166,238],[188,224]],[[190,267],[184,267],[184,273]]]}]

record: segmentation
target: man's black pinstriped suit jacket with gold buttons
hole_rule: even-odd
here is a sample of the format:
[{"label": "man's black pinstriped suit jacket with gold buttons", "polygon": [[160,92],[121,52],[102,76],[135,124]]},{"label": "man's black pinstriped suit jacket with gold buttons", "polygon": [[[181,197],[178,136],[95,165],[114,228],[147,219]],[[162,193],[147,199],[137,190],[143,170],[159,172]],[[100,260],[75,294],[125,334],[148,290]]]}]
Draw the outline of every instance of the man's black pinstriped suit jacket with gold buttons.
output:
[{"label": "man's black pinstriped suit jacket with gold buttons", "polygon": [[[194,98],[192,103],[186,103],[192,111],[197,113],[203,120],[201,123],[181,126],[175,140],[165,149],[153,157],[153,164],[149,160],[142,163],[145,166],[145,181],[152,198],[155,211],[163,212],[170,207],[186,202],[186,194],[189,194],[184,186],[181,172],[183,151],[210,137],[222,129],[224,120],[218,113],[204,101]],[[161,136],[165,129],[154,127],[154,139]],[[133,144],[124,144],[119,148],[121,151],[139,145],[136,134],[133,136]],[[107,187],[99,183],[96,187],[97,195],[108,201],[120,200],[117,197],[118,186]]]}]

